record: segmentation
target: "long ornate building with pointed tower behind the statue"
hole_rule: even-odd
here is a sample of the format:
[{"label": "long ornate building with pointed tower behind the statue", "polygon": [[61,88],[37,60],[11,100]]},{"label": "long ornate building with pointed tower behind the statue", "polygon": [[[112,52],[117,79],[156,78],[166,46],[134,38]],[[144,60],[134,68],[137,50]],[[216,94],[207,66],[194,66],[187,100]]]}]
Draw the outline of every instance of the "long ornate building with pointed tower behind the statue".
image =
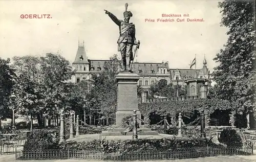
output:
[{"label": "long ornate building with pointed tower behind the statue", "polygon": [[[78,43],[76,57],[73,62],[73,68],[76,70],[76,72],[72,77],[72,82],[78,83],[82,80],[90,80],[93,73],[97,74],[103,72],[105,64],[109,61],[110,60],[88,59],[86,50],[84,49],[84,44]],[[207,82],[209,79],[209,70],[207,68],[207,62],[205,58],[203,60],[203,67],[199,70],[186,68],[169,68],[168,61],[151,63],[134,62],[132,70],[134,73],[140,76],[138,85],[141,85],[143,88],[143,92],[141,94],[142,102],[146,100],[150,86],[157,81],[166,80],[167,84],[173,83],[173,85],[177,85],[178,83],[181,87],[189,85],[186,86],[188,91],[187,96],[200,96],[198,90],[193,90],[195,89],[194,87],[196,85],[194,84],[196,83],[191,83],[191,80],[198,79]]]}]

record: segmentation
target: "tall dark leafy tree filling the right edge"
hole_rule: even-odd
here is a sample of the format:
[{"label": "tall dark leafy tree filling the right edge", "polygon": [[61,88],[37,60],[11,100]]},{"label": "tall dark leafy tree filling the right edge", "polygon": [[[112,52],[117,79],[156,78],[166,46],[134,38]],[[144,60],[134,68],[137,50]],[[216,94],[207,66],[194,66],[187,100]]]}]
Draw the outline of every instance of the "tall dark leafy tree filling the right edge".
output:
[{"label": "tall dark leafy tree filling the right edge", "polygon": [[229,37],[214,58],[216,97],[231,101],[233,113],[255,112],[255,1],[226,0],[218,7]]}]

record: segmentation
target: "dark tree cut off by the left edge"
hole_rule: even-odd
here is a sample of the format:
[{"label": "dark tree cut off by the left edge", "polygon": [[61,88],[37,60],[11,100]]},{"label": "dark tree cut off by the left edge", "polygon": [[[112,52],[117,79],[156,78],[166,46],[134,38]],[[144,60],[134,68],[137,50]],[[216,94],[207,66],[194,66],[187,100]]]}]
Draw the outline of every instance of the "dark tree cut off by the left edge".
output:
[{"label": "dark tree cut off by the left edge", "polygon": [[9,63],[9,58],[7,60],[0,58],[0,128],[1,120],[11,118],[11,110],[8,107],[8,103],[15,74]]}]

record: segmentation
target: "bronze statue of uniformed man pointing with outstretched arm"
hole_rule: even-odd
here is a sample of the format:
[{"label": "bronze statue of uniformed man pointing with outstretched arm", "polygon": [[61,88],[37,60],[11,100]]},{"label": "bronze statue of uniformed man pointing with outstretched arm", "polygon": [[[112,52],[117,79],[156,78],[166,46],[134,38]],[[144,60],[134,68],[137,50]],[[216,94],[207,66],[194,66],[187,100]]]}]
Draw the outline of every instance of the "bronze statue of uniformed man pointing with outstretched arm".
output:
[{"label": "bronze statue of uniformed man pointing with outstretched arm", "polygon": [[124,71],[131,72],[131,61],[133,61],[133,45],[137,45],[135,38],[135,25],[129,23],[130,18],[133,16],[131,11],[127,11],[128,4],[125,4],[125,11],[123,12],[123,20],[118,19],[111,12],[104,10],[105,14],[108,14],[110,18],[119,26],[119,39],[118,51],[121,52],[122,66]]}]

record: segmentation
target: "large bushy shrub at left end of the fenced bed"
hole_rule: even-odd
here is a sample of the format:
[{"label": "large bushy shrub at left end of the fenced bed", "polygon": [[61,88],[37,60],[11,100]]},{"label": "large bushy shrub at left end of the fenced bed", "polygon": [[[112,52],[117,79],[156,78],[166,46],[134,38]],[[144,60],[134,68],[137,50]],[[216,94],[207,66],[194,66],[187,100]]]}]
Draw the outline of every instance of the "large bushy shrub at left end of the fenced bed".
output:
[{"label": "large bushy shrub at left end of the fenced bed", "polygon": [[59,148],[59,134],[45,130],[32,131],[24,144],[24,150],[48,150]]}]

